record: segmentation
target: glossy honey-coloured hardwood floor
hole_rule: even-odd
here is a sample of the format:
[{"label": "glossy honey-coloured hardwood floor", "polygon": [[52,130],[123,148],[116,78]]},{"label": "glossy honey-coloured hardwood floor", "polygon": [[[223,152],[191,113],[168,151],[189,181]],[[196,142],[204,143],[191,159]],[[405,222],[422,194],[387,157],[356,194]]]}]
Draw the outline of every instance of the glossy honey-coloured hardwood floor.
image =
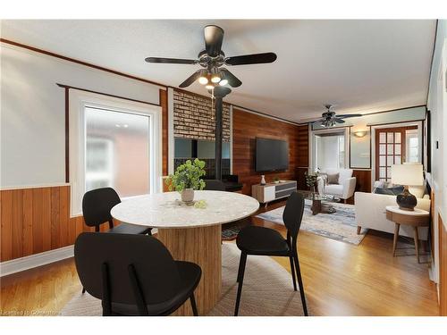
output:
[{"label": "glossy honey-coloured hardwood floor", "polygon": [[[284,202],[269,205],[272,210]],[[283,226],[249,221],[285,233]],[[411,242],[411,241],[410,241]],[[299,232],[299,262],[308,306],[316,315],[438,315],[427,264],[392,257],[392,235],[369,231],[359,246]],[[290,271],[289,260],[275,258]],[[1,314],[57,314],[80,292],[72,258],[1,278]]]}]

